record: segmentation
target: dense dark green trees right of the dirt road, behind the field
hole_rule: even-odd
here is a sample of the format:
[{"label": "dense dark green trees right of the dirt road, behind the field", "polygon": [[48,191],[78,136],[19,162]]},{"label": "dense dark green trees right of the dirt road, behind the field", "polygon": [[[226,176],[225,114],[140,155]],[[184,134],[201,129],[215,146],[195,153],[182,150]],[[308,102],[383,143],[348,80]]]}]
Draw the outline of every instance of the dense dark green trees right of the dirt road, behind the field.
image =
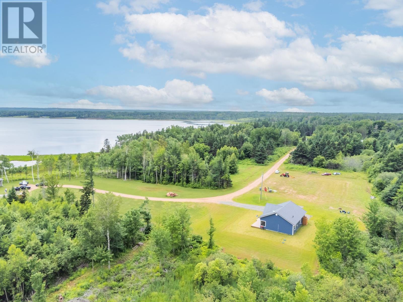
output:
[{"label": "dense dark green trees right of the dirt road, behind the field", "polygon": [[301,141],[293,162],[318,168],[364,171],[381,201],[403,209],[403,125],[356,121],[318,126]]}]

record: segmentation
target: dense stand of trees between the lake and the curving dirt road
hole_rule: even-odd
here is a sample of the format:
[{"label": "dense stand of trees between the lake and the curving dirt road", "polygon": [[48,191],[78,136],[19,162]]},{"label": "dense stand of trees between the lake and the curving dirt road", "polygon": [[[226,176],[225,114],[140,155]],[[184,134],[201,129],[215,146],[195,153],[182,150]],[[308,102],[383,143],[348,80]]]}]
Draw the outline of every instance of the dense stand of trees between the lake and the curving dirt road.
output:
[{"label": "dense stand of trees between the lake and the curving dirt road", "polygon": [[268,122],[229,127],[172,126],[156,132],[119,136],[105,141],[97,159],[97,175],[192,188],[227,188],[238,172],[238,159],[264,163],[278,146],[296,144],[299,131]]}]

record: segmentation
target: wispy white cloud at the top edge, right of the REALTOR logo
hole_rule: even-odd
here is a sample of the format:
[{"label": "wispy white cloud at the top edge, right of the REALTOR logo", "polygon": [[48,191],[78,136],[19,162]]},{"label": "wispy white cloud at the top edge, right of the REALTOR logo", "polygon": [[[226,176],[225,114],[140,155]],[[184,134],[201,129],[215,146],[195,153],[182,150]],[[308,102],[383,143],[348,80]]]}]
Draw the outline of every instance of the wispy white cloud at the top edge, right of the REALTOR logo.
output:
[{"label": "wispy white cloud at the top edge, right of the REALTOR logo", "polygon": [[161,4],[167,4],[169,0],[109,0],[108,2],[98,2],[97,7],[104,14],[129,14],[140,13],[145,10],[156,10]]}]

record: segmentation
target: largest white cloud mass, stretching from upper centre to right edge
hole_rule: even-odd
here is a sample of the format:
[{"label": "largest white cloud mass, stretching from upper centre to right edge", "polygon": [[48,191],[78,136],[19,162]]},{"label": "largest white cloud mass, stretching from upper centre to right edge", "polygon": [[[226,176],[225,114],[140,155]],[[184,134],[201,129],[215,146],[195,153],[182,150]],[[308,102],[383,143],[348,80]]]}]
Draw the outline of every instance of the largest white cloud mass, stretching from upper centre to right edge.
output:
[{"label": "largest white cloud mass, stretching from upper centre to right edge", "polygon": [[[403,37],[350,34],[334,38],[334,46],[320,47],[312,43],[307,28],[286,24],[269,12],[222,4],[206,10],[128,14],[125,34],[130,42],[120,52],[129,60],[183,68],[202,78],[237,73],[310,89],[367,88],[370,83],[360,80],[367,77],[403,80]],[[138,42],[137,34],[150,39]]]}]

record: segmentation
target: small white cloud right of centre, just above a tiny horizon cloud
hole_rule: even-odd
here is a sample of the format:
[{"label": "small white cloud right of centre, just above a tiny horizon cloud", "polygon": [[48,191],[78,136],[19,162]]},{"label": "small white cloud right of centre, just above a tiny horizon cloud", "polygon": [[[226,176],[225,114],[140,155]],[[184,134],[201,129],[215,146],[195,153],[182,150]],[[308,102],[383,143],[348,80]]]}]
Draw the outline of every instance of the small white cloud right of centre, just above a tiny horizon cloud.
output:
[{"label": "small white cloud right of centre, just above a tiny horizon cloud", "polygon": [[256,92],[257,95],[264,97],[270,103],[285,104],[291,106],[311,106],[315,104],[312,97],[308,97],[298,88],[280,88],[277,90],[262,89]]}]

